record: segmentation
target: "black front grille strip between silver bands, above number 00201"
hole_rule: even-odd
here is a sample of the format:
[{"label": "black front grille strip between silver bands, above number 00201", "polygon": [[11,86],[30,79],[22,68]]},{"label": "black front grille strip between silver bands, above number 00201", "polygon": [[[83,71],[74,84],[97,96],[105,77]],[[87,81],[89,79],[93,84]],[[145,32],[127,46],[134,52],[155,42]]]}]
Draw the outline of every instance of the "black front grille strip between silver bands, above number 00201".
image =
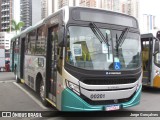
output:
[{"label": "black front grille strip between silver bands, above number 00201", "polygon": [[136,78],[89,78],[82,82],[88,85],[117,85],[135,83],[136,81]]}]

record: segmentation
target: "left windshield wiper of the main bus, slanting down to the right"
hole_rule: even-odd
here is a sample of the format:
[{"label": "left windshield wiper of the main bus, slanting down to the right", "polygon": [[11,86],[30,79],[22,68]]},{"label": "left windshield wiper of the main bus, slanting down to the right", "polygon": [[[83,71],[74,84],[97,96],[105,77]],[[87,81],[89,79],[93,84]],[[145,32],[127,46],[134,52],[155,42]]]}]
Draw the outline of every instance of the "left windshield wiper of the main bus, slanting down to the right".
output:
[{"label": "left windshield wiper of the main bus, slanting down to the right", "polygon": [[103,33],[100,31],[100,29],[96,26],[95,23],[91,22],[89,24],[89,26],[90,26],[91,30],[93,31],[93,33],[96,35],[96,37],[100,40],[101,43],[104,42],[108,46],[110,46],[109,43],[108,43],[108,36],[106,35],[106,38],[105,38]]}]

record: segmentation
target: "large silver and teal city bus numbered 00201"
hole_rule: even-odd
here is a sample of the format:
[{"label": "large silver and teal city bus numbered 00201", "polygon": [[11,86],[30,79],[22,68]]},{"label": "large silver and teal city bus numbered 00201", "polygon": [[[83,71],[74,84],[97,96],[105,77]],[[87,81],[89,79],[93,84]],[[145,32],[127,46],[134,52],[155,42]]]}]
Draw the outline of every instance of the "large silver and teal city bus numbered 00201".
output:
[{"label": "large silver and teal city bus numbered 00201", "polygon": [[140,103],[141,42],[134,17],[67,6],[12,42],[19,52],[16,81],[36,91],[46,106],[110,111]]}]

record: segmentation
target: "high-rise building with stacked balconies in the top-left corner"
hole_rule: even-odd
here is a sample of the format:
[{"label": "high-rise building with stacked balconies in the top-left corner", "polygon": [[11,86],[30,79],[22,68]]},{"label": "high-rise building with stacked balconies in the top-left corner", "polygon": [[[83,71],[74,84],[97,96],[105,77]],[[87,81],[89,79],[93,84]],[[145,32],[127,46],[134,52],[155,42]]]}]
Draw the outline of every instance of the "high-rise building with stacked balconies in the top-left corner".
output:
[{"label": "high-rise building with stacked balconies in the top-left corner", "polygon": [[11,26],[13,17],[13,0],[0,0],[1,3],[1,31],[5,32]]}]

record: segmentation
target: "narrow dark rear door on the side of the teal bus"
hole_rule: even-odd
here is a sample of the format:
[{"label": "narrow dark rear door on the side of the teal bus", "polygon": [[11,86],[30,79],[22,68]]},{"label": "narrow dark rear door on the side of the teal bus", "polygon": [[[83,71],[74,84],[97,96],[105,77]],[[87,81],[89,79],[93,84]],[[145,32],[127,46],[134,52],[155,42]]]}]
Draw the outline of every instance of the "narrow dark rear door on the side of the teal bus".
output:
[{"label": "narrow dark rear door on the side of the teal bus", "polygon": [[25,38],[21,38],[20,78],[24,78]]}]

